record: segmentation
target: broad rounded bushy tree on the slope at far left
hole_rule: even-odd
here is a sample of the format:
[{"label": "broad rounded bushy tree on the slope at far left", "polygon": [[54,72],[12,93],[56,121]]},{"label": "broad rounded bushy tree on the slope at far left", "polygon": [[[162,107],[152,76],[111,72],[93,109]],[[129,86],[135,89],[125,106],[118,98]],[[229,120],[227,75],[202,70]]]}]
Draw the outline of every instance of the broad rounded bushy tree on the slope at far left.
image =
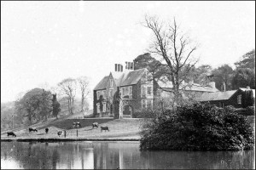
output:
[{"label": "broad rounded bushy tree on the slope at far left", "polygon": [[47,120],[52,111],[51,93],[42,88],[34,88],[21,99],[15,101],[15,109],[21,117],[27,116],[28,122]]}]

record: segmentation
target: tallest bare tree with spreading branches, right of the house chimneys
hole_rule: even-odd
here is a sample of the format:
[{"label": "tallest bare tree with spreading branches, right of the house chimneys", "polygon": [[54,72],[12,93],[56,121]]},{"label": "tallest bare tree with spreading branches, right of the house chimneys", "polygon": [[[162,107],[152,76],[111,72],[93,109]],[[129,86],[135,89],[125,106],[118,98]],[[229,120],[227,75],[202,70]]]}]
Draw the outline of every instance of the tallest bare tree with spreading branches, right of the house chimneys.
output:
[{"label": "tallest bare tree with spreading branches, right of the house chimneys", "polygon": [[193,45],[189,37],[181,31],[175,19],[173,23],[169,23],[160,21],[156,17],[146,16],[143,26],[153,31],[154,40],[148,52],[160,57],[161,64],[156,66],[164,66],[162,77],[172,82],[174,101],[178,104],[182,99],[180,93],[182,84],[197,62],[192,56],[197,45]]}]

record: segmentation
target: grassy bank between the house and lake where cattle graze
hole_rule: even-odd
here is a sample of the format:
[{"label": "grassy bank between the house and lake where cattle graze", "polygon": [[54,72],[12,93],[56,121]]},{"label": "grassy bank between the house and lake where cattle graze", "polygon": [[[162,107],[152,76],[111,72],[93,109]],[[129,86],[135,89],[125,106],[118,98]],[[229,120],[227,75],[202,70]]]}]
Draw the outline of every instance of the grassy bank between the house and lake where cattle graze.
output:
[{"label": "grassy bank between the house and lake where cattle graze", "polygon": [[[82,127],[73,129],[73,122],[80,122]],[[109,132],[101,131],[100,127],[92,128],[91,124],[98,122],[100,126],[108,126]],[[37,126],[38,133],[29,133],[28,129],[15,131],[17,137],[7,137],[7,133],[1,134],[1,139],[18,140],[138,140],[140,139],[141,119],[67,119],[53,121]],[[49,128],[49,133],[45,133],[45,127]],[[57,135],[62,131],[61,136]],[[66,137],[64,136],[66,131]]]}]

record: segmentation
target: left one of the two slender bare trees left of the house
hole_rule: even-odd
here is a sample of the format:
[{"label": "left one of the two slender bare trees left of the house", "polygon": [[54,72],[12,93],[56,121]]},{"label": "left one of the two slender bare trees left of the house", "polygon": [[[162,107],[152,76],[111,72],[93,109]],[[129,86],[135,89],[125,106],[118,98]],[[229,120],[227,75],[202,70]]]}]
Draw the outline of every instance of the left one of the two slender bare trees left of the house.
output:
[{"label": "left one of the two slender bare trees left of the house", "polygon": [[67,78],[58,83],[62,94],[67,96],[67,107],[70,114],[74,110],[74,98],[76,95],[77,82],[73,78]]}]

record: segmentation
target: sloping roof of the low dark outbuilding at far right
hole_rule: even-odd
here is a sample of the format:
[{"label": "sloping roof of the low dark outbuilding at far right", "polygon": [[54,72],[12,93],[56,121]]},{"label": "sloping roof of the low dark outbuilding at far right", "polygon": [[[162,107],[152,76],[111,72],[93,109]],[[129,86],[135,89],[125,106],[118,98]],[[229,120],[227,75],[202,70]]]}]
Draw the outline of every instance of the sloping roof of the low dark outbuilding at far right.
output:
[{"label": "sloping roof of the low dark outbuilding at far right", "polygon": [[202,94],[201,97],[196,99],[197,101],[212,101],[212,100],[226,100],[230,99],[233,94],[235,94],[237,90],[230,90],[225,92],[215,92],[215,93],[207,93]]}]

